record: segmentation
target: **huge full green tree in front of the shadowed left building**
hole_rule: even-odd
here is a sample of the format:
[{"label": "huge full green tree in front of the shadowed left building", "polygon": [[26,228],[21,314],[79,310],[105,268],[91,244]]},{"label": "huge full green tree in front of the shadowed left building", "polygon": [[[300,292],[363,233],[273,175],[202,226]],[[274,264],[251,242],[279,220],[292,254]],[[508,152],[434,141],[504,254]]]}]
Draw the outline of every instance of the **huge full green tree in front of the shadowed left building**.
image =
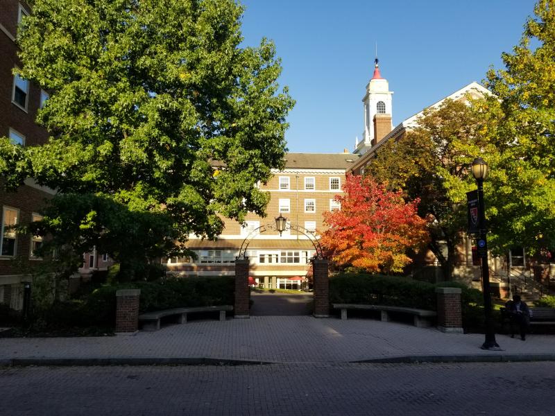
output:
[{"label": "huge full green tree in front of the shadowed left building", "polygon": [[37,116],[51,137],[1,139],[0,173],[9,189],[33,176],[60,192],[35,228],[123,261],[176,253],[189,234],[212,239],[222,216],[264,214],[255,185],[282,167],[294,102],[279,91],[273,43],[240,46],[236,1],[31,6],[18,72],[51,92]]}]

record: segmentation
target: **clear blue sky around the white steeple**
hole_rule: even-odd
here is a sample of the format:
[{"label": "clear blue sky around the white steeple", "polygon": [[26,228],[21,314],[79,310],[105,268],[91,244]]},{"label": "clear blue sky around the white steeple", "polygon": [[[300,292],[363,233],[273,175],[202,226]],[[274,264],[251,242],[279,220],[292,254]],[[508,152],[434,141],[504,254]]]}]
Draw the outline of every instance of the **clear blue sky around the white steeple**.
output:
[{"label": "clear blue sky around the white steeple", "polygon": [[297,103],[291,152],[352,151],[375,42],[393,94],[393,125],[502,67],[533,0],[241,0],[244,44],[263,36],[282,58],[280,85]]}]

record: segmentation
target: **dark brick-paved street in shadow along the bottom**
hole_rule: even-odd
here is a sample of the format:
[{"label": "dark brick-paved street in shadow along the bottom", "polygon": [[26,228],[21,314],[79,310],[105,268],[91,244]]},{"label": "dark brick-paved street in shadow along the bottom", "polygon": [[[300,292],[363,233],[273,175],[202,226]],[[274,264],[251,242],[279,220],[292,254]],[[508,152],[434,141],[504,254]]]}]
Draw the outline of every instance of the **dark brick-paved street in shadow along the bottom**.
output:
[{"label": "dark brick-paved street in shadow along the bottom", "polygon": [[1,414],[553,415],[555,363],[0,369]]}]

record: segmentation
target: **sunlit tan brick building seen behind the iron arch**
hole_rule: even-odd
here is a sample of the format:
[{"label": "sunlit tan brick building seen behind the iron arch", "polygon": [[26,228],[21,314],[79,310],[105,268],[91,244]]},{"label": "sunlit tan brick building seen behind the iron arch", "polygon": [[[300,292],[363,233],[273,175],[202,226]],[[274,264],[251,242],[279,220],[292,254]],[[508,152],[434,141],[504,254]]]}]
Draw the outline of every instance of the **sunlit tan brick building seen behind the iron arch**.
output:
[{"label": "sunlit tan brick building seen behind the iron arch", "polygon": [[[234,275],[234,260],[251,231],[273,223],[280,215],[293,229],[280,234],[273,229],[254,232],[248,245],[250,276],[265,288],[301,288],[309,277],[312,241],[323,230],[323,213],[339,208],[334,197],[341,193],[345,172],[358,155],[352,153],[288,153],[283,171],[261,188],[271,194],[266,218],[254,214],[246,224],[226,220],[218,241],[194,239],[188,243],[198,259],[165,259],[168,270],[182,276]],[[301,227],[302,232],[294,230]],[[289,227],[288,227],[289,228]]]}]

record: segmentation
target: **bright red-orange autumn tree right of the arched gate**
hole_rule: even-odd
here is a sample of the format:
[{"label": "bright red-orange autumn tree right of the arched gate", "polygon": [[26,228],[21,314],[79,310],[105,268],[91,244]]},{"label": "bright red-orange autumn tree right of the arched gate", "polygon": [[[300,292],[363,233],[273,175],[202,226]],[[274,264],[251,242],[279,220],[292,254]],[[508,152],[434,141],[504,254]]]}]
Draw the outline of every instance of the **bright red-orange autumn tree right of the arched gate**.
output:
[{"label": "bright red-orange autumn tree right of the arched gate", "polygon": [[411,263],[407,250],[427,242],[426,220],[417,214],[419,200],[405,202],[372,177],[348,175],[341,209],[324,214],[329,227],[321,243],[336,266],[368,272],[402,272]]}]

